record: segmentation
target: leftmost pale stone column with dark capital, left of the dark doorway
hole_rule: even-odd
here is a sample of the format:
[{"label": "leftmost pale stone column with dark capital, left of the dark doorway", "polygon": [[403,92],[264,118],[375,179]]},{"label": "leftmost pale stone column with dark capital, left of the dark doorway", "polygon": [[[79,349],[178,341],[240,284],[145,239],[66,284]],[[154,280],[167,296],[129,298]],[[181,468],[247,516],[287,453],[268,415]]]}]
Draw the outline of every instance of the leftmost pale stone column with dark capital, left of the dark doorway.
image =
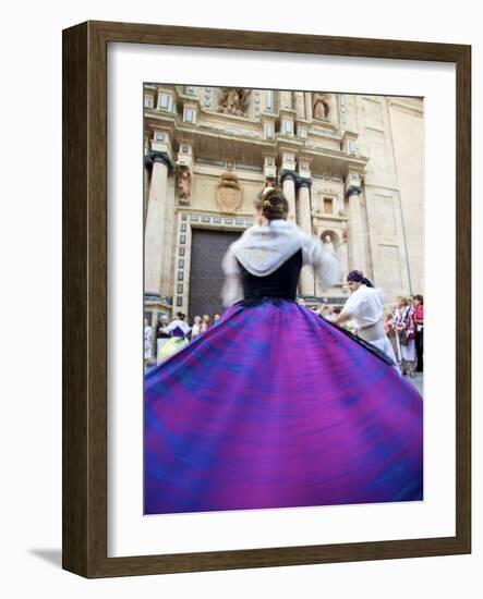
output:
[{"label": "leftmost pale stone column with dark capital, left of the dark doorway", "polygon": [[[146,164],[153,167],[144,233],[144,292],[160,296],[165,245],[168,170],[172,162],[166,152],[149,152]],[[167,290],[164,290],[165,294]]]}]

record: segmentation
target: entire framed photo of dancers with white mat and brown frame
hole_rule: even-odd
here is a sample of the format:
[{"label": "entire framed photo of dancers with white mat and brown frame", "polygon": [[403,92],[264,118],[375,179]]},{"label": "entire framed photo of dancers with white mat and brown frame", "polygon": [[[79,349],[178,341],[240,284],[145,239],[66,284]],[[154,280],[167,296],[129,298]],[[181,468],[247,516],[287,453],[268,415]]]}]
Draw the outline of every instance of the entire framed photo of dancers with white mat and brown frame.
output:
[{"label": "entire framed photo of dancers with white mat and brown frame", "polygon": [[469,553],[469,46],[63,32],[63,567]]}]

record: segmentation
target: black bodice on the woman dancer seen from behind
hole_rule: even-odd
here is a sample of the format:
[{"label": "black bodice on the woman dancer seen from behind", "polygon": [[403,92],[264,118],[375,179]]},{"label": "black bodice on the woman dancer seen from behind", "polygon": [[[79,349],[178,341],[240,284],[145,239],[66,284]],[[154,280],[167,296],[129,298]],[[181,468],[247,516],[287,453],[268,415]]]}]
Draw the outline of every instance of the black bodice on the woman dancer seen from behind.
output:
[{"label": "black bodice on the woman dancer seen from behind", "polygon": [[244,295],[243,303],[254,304],[266,297],[295,300],[297,283],[301,268],[301,249],[286,260],[275,272],[266,277],[255,277],[240,264]]}]

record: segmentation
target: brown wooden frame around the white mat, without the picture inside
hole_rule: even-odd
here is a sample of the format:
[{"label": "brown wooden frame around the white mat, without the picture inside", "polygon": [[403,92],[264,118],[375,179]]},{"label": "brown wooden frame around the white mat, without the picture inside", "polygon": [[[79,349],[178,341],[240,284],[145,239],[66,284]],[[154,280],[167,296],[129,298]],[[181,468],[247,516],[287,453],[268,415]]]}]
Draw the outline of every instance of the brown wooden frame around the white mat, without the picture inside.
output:
[{"label": "brown wooden frame around the white mat, without the picture inside", "polygon": [[[107,557],[107,45],[135,42],[440,61],[457,82],[456,536]],[[471,551],[471,47],[86,22],[63,32],[63,567],[86,577]]]}]

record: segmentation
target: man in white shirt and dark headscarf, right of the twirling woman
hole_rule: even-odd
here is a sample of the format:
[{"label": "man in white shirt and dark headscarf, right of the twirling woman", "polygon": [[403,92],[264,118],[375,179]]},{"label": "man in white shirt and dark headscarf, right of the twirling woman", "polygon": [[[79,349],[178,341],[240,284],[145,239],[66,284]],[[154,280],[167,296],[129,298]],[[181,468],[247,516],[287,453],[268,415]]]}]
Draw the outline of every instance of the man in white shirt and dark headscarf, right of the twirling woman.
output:
[{"label": "man in white shirt and dark headscarf, right of the twirling woman", "polygon": [[383,290],[374,289],[360,270],[351,270],[347,282],[351,295],[335,322],[342,325],[352,320],[355,334],[384,352],[397,365],[393,345],[383,325]]}]

